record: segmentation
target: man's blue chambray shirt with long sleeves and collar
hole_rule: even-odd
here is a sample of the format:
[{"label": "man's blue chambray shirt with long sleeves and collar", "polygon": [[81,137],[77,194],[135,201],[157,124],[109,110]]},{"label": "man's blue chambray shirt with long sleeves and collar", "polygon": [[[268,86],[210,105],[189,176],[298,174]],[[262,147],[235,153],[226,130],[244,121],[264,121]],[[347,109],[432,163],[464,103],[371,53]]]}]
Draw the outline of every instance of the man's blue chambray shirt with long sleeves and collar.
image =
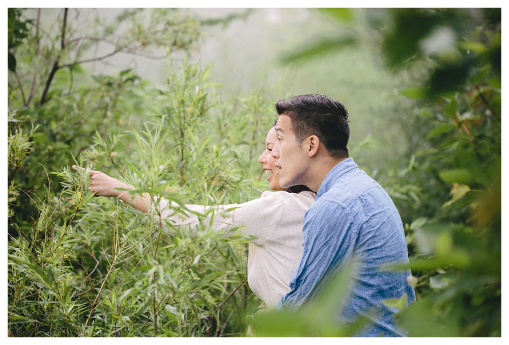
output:
[{"label": "man's blue chambray shirt with long sleeves and collar", "polygon": [[360,267],[351,295],[337,312],[338,322],[353,322],[365,315],[373,324],[357,336],[404,336],[393,322],[397,310],[382,301],[404,294],[407,304],[415,301],[414,289],[407,282],[410,270],[380,269],[384,264],[408,262],[401,217],[389,195],[352,158],[329,171],[304,216],[302,231],[302,260],[290,280],[290,292],[281,297],[276,310],[296,310],[314,299],[330,273],[351,257]]}]

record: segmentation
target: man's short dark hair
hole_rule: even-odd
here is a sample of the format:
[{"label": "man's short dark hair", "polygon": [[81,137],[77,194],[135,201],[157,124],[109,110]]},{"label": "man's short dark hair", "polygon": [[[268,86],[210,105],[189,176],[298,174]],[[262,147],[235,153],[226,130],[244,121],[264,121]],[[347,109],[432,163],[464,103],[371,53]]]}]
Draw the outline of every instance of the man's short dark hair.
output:
[{"label": "man's short dark hair", "polygon": [[288,115],[298,143],[317,136],[336,158],[348,158],[348,111],[340,101],[324,95],[299,95],[275,104],[277,114]]}]

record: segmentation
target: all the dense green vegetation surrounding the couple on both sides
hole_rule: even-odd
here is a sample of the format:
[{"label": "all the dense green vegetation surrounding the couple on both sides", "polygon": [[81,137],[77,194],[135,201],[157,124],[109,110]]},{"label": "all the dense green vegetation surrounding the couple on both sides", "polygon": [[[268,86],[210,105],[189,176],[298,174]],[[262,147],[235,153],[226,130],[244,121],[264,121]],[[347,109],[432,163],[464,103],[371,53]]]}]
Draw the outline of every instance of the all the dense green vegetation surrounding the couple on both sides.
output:
[{"label": "all the dense green vegetation surrounding the couple on both sides", "polygon": [[[272,102],[287,94],[219,101],[210,66],[189,62],[202,32],[184,10],[150,20],[128,10],[116,23],[87,13],[62,10],[48,29],[40,11],[8,9],[9,336],[243,336],[259,303],[246,284],[248,239],[208,231],[207,222],[196,237],[163,229],[94,198],[87,174],[99,169],[180,204],[257,198]],[[405,225],[418,300],[401,308],[400,326],[410,336],[500,336],[500,9],[325,13],[343,36],[288,62],[369,37],[373,54],[415,83],[401,90],[413,112],[390,119],[407,126],[401,166],[363,167]],[[430,37],[447,44],[436,49]],[[83,65],[98,41],[111,44],[108,55],[167,47],[164,85],[131,70],[91,75]],[[329,314],[346,276],[306,313],[261,317],[260,334],[351,334]]]}]

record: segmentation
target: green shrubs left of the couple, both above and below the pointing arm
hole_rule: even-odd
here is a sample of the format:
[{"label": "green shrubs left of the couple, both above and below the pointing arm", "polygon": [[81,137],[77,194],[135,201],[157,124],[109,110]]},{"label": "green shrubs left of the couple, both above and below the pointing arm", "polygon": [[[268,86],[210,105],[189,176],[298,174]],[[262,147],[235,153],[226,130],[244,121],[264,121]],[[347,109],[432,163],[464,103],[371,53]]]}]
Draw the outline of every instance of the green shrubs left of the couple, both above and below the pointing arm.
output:
[{"label": "green shrubs left of the couple, both above and below the pointing arm", "polygon": [[[67,30],[76,24],[77,35],[72,11],[61,13],[60,23]],[[153,14],[147,28],[139,14],[118,18],[136,24],[127,34],[132,40],[120,39],[124,49],[129,42],[129,49],[168,42],[168,50],[187,49],[199,37],[192,18],[177,20],[178,10]],[[184,202],[259,197],[266,186],[252,180],[261,169],[247,144],[261,147],[272,122],[263,94],[239,101],[245,112],[258,109],[239,130],[228,117],[233,110],[217,106],[210,66],[202,70],[186,58],[174,66],[169,58],[166,84],[152,90],[130,70],[89,75],[79,65],[83,46],[73,50],[65,25],[66,46],[48,40],[48,55],[36,54],[44,43],[37,25],[27,24],[28,35],[10,47],[18,64],[9,74],[9,335],[243,335],[245,315],[260,303],[246,284],[246,238],[211,231],[209,214],[200,215],[193,236],[160,226],[155,215],[94,198],[87,183],[98,169],[134,185],[133,194],[177,201],[177,212]],[[101,25],[105,32],[114,27]],[[74,62],[59,60],[51,76],[40,68],[64,50],[65,59],[75,53]],[[44,80],[46,94],[30,88]],[[86,169],[75,172],[71,164]]]}]

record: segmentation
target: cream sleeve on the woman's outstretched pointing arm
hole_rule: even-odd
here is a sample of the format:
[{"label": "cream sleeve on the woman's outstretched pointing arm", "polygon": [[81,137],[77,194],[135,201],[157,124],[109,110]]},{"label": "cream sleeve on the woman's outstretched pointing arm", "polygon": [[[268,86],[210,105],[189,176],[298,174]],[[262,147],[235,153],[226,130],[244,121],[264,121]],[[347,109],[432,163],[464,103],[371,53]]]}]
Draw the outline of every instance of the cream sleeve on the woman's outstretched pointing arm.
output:
[{"label": "cream sleeve on the woman's outstretched pointing arm", "polygon": [[[185,226],[196,233],[200,224],[211,224],[214,231],[228,232],[240,229],[244,235],[253,236],[251,242],[262,245],[278,226],[287,192],[264,192],[259,199],[242,204],[228,205],[179,205],[175,201],[160,198],[154,202],[154,214],[163,227]],[[183,207],[182,207],[183,206]]]}]

